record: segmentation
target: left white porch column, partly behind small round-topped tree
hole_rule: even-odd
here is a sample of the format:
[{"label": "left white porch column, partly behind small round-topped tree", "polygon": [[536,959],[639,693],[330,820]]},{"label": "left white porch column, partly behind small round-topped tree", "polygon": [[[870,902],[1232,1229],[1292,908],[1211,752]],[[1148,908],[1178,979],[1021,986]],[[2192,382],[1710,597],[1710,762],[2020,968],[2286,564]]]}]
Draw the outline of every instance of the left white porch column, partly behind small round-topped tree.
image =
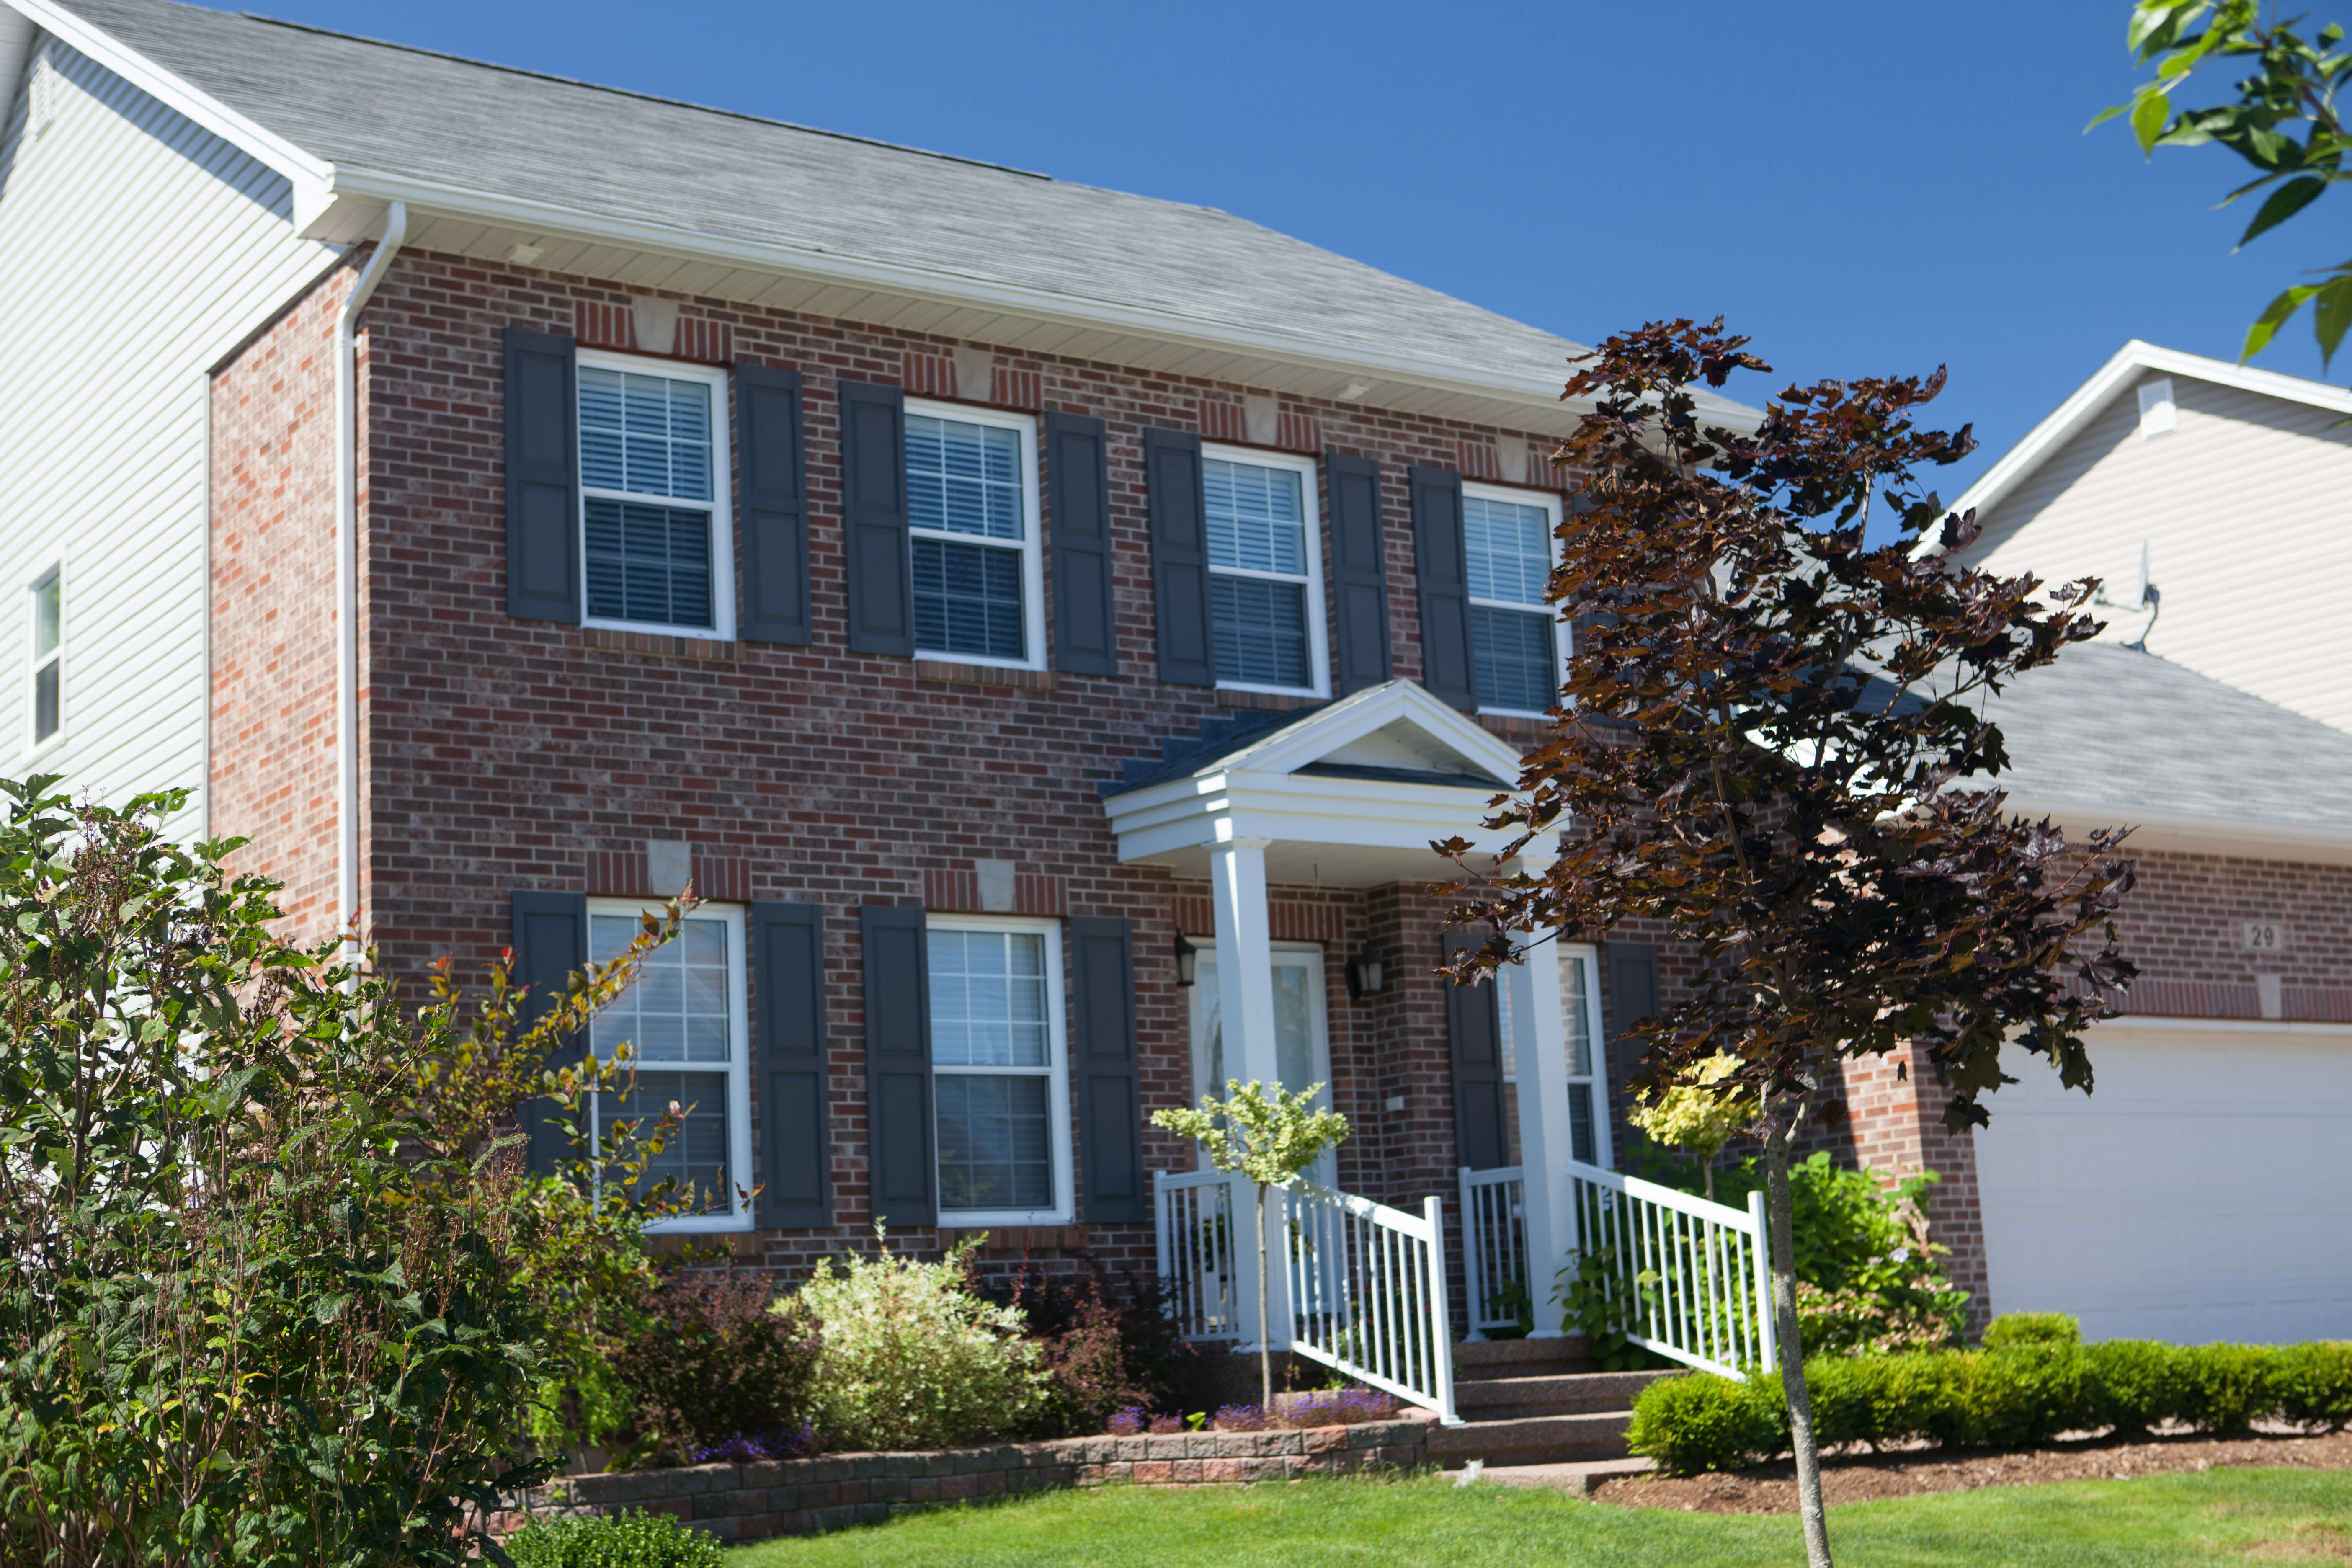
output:
[{"label": "left white porch column, partly behind small round-topped tree", "polygon": [[[1265,846],[1272,839],[1221,839],[1209,846],[1209,903],[1216,914],[1216,1013],[1225,1037],[1225,1077],[1244,1084],[1282,1084],[1282,1063],[1275,1053],[1275,931],[1265,912]],[[1211,1084],[1209,1093],[1225,1098],[1223,1084]],[[1258,1232],[1251,1213],[1256,1187],[1235,1187],[1235,1251],[1247,1253],[1240,1269],[1244,1300],[1242,1321],[1251,1333],[1237,1349],[1258,1349],[1263,1326],[1258,1316]],[[1265,1204],[1265,1314],[1275,1324],[1275,1349],[1289,1349],[1291,1321],[1289,1272],[1282,1267],[1282,1199]]]}]

